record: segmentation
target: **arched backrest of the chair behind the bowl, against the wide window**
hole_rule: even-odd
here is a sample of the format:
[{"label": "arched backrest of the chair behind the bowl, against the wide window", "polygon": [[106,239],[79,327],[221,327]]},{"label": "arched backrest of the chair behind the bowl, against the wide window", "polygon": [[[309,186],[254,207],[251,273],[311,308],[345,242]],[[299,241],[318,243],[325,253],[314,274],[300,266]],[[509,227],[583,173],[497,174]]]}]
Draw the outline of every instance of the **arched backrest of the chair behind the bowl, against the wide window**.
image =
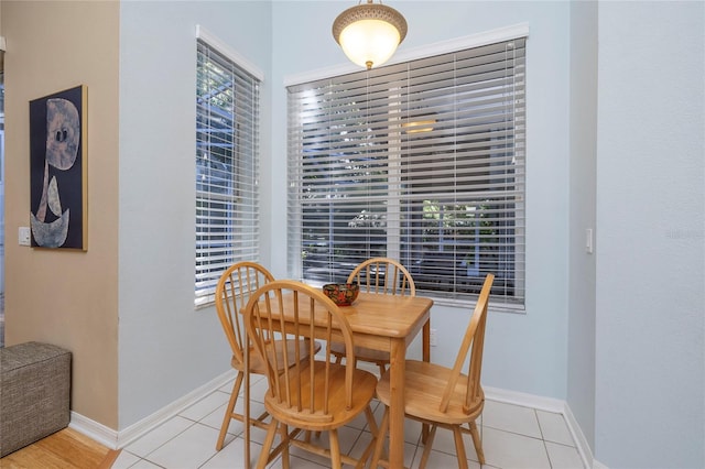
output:
[{"label": "arched backrest of the chair behind the bowl, against the wide window", "polygon": [[348,283],[352,282],[360,285],[360,292],[402,296],[416,294],[416,285],[406,268],[389,258],[372,258],[361,262],[348,275]]}]

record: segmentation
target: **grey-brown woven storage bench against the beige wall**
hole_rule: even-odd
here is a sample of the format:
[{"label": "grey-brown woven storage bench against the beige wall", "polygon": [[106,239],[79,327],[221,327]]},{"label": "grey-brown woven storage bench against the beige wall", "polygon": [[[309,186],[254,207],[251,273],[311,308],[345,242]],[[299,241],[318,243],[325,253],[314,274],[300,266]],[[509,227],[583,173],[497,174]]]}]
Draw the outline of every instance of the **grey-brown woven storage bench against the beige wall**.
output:
[{"label": "grey-brown woven storage bench against the beige wall", "polygon": [[0,348],[0,457],[68,425],[70,352],[41,342]]}]

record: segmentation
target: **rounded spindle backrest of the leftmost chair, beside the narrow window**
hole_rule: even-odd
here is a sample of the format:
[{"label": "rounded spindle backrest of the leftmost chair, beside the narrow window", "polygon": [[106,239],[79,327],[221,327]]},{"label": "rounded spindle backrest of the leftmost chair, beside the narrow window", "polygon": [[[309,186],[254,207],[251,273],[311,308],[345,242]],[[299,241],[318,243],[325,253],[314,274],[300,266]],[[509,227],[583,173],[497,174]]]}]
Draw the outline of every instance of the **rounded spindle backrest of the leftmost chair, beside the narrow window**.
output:
[{"label": "rounded spindle backrest of the leftmost chair, beside the narrow window", "polygon": [[226,270],[216,287],[216,310],[223,330],[232,349],[232,357],[240,366],[245,366],[243,345],[248,343],[245,335],[243,318],[238,312],[243,310],[250,295],[260,286],[274,281],[274,276],[256,262],[238,262]]}]

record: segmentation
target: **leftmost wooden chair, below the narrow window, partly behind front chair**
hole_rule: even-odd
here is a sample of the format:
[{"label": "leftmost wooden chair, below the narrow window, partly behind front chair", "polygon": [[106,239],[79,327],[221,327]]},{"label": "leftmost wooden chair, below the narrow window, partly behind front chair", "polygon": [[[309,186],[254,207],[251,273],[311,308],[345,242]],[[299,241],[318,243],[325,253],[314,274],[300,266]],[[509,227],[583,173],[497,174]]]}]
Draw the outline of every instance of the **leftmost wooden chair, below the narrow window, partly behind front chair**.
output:
[{"label": "leftmost wooden chair, below the narrow window, partly behind front chair", "polygon": [[[230,393],[230,400],[228,407],[225,411],[223,418],[223,425],[220,426],[220,434],[218,435],[218,441],[216,443],[216,450],[223,449],[225,436],[230,426],[232,419],[245,423],[245,416],[235,412],[235,405],[242,386],[242,380],[245,378],[245,343],[247,335],[245,332],[243,317],[239,312],[245,309],[247,302],[250,299],[250,295],[260,286],[274,281],[274,276],[262,265],[256,262],[238,262],[228,270],[226,270],[218,281],[216,287],[216,310],[218,312],[218,318],[223,325],[223,330],[230,343],[232,350],[232,358],[230,359],[230,366],[237,370],[237,377],[232,384],[232,392]],[[249,342],[247,342],[249,346]],[[253,351],[250,347],[250,373],[265,374],[267,363],[262,358]],[[278,352],[282,353],[282,343],[278,343]],[[321,349],[321,345],[315,345],[315,350]],[[307,353],[305,350],[305,353]],[[290,355],[294,357],[294,353]],[[286,363],[286,362],[283,362]],[[289,366],[293,362],[288,362]],[[267,428],[268,424],[264,422],[267,413],[260,415],[258,418],[251,418],[250,425],[258,426],[260,428]]]}]

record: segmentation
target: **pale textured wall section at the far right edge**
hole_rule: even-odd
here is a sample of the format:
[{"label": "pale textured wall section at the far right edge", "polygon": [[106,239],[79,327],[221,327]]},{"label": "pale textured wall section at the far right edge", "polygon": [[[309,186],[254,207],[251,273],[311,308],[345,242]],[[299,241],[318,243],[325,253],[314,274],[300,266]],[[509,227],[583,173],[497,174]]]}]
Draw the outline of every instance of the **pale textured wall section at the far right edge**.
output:
[{"label": "pale textured wall section at the far right edge", "polygon": [[705,467],[705,3],[599,3],[597,459]]}]

